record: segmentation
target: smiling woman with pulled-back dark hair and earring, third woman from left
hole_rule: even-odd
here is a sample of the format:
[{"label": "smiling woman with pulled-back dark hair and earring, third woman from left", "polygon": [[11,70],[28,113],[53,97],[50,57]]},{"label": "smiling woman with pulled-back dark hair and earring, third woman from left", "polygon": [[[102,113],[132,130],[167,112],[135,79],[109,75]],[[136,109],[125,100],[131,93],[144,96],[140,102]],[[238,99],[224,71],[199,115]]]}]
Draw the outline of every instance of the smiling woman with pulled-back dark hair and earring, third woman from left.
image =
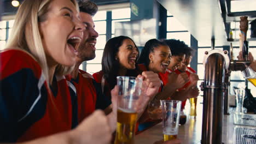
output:
[{"label": "smiling woman with pulled-back dark hair and earring, third woman from left", "polygon": [[[141,56],[139,56],[139,68],[154,71],[154,73],[165,73],[168,65],[171,63],[171,58],[171,50],[166,43],[157,39],[150,39],[145,44]],[[159,74],[159,77],[164,87],[159,89],[155,99],[167,99],[170,96],[173,96],[171,99],[175,100],[186,99],[186,97],[175,97],[175,95],[172,95],[176,92],[177,88],[182,87],[184,84],[181,85],[181,82],[174,82],[173,77],[168,77],[167,75]],[[187,82],[188,80],[184,81]]]}]

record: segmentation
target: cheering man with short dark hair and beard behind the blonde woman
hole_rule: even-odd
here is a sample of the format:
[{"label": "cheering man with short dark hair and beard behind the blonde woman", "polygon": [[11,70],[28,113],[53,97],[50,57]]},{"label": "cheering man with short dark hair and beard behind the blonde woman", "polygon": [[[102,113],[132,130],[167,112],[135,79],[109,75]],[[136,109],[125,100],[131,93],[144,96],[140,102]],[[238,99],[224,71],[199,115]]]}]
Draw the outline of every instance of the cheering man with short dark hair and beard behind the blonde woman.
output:
[{"label": "cheering man with short dark hair and beard behind the blonde woman", "polygon": [[80,19],[86,25],[86,29],[78,47],[78,56],[75,59],[74,70],[71,76],[67,77],[77,90],[78,122],[81,122],[96,109],[101,109],[106,114],[109,114],[112,111],[112,105],[110,99],[103,95],[100,83],[96,83],[92,75],[79,69],[80,64],[84,61],[95,58],[95,44],[98,33],[95,31],[92,16],[97,13],[98,7],[94,2],[90,1],[79,1],[78,4]]}]

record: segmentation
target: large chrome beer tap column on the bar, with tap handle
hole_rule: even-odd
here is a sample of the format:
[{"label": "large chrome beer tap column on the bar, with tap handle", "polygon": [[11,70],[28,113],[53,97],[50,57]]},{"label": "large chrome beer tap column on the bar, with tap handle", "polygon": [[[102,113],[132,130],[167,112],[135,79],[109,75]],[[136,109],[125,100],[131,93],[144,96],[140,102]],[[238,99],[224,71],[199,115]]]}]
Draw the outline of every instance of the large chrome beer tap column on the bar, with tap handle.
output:
[{"label": "large chrome beer tap column on the bar, with tap handle", "polygon": [[[242,52],[245,61],[236,61],[232,58],[232,44],[230,46],[230,58],[228,51],[214,50],[214,46],[213,50],[205,52],[203,60],[205,77],[200,85],[201,91],[203,91],[201,140],[203,144],[222,144],[223,113],[228,114],[229,111],[230,73],[241,70],[248,74],[246,69],[250,62],[248,61],[248,41],[246,41],[248,29],[248,21],[246,22],[246,20],[247,17],[241,17],[240,22],[240,30],[243,34]],[[247,23],[247,27],[245,23]]]}]

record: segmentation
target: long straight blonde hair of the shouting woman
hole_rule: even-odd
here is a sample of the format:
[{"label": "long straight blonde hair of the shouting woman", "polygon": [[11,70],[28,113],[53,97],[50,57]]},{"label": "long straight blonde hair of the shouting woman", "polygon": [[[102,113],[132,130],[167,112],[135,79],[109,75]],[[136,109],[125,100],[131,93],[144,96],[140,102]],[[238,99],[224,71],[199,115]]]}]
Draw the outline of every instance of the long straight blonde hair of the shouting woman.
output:
[{"label": "long straight blonde hair of the shouting woman", "polygon": [[[43,22],[47,19],[49,4],[52,1],[53,0],[25,0],[22,2],[16,14],[13,30],[6,46],[7,48],[17,47],[17,49],[30,53],[42,68],[48,84],[49,68],[39,32],[39,22]],[[75,0],[71,0],[71,2],[79,11],[77,2]],[[73,67],[58,65],[55,74],[65,75],[69,73],[72,68]]]}]

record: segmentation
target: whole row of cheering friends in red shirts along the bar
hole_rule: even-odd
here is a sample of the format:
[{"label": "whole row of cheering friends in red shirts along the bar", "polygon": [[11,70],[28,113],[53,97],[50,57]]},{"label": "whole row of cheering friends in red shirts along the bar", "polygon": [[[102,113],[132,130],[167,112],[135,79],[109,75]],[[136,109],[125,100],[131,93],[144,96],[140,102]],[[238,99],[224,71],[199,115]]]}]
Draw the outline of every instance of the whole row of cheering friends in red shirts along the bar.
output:
[{"label": "whole row of cheering friends in red shirts along the bar", "polygon": [[110,143],[117,127],[117,76],[146,83],[136,133],[158,120],[149,116],[150,104],[181,100],[184,109],[185,100],[199,95],[199,78],[188,67],[194,50],[176,39],[150,39],[139,54],[131,38],[114,37],[104,47],[101,71],[80,70],[95,58],[97,9],[90,1],[22,2],[0,53],[0,143]]}]

